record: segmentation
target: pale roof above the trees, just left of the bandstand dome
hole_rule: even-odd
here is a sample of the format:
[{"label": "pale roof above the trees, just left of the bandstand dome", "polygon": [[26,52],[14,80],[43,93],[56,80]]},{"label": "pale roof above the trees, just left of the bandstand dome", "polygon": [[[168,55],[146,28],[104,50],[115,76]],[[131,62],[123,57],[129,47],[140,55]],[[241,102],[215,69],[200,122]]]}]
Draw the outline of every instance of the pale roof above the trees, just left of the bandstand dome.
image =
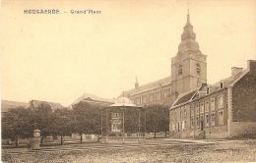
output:
[{"label": "pale roof above the trees, just left of the bandstand dome", "polygon": [[75,100],[71,105],[69,105],[68,108],[72,109],[72,107],[74,105],[78,104],[81,101],[88,102],[91,104],[100,105],[100,106],[108,106],[108,105],[113,104],[115,102],[115,99],[114,98],[112,98],[112,99],[102,98],[102,97],[96,96],[95,94],[84,93],[77,100]]}]

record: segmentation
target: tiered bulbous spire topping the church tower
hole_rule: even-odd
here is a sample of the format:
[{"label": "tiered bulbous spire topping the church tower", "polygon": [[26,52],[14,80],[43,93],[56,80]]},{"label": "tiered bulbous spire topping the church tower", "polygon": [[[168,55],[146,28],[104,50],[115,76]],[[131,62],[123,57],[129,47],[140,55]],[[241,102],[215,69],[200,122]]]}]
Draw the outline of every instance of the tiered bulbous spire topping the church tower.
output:
[{"label": "tiered bulbous spire topping the church tower", "polygon": [[184,31],[181,34],[181,42],[178,46],[178,52],[184,52],[188,50],[198,51],[199,44],[196,41],[196,33],[193,31],[193,26],[190,23],[189,12],[187,14],[187,23],[183,28]]}]

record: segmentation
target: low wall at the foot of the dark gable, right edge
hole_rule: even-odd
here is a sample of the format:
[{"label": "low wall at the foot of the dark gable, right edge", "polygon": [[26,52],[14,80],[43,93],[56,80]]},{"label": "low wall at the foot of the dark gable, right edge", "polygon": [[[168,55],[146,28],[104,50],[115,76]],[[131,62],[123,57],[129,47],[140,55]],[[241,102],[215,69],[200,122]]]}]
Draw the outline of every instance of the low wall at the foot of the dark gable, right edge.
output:
[{"label": "low wall at the foot of the dark gable, right edge", "polygon": [[230,138],[256,138],[256,122],[231,122]]}]

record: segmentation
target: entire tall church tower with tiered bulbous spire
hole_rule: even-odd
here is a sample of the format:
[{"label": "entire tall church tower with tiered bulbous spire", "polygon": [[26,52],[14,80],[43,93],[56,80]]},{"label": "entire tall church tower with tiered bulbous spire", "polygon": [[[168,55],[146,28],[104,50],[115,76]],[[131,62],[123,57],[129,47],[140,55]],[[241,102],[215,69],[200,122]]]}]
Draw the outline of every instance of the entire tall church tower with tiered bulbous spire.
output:
[{"label": "entire tall church tower with tiered bulbous spire", "polygon": [[207,82],[207,56],[199,50],[189,13],[187,23],[183,28],[178,52],[171,58],[172,92],[177,94],[187,92]]}]

